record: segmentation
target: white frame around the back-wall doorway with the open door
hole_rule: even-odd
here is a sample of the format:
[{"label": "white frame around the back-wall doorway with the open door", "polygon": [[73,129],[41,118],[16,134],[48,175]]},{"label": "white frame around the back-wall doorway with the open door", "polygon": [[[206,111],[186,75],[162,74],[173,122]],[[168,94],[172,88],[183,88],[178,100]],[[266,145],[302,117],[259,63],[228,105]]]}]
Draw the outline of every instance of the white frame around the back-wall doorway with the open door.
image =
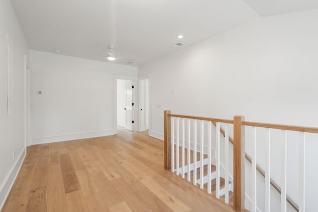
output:
[{"label": "white frame around the back-wall doorway with the open door", "polygon": [[114,134],[117,134],[117,79],[125,79],[125,80],[132,80],[134,83],[134,93],[133,93],[133,102],[134,102],[134,109],[133,109],[133,117],[134,117],[134,124],[133,124],[133,131],[139,131],[139,124],[136,117],[138,117],[138,77],[137,76],[127,76],[127,75],[114,75]]}]

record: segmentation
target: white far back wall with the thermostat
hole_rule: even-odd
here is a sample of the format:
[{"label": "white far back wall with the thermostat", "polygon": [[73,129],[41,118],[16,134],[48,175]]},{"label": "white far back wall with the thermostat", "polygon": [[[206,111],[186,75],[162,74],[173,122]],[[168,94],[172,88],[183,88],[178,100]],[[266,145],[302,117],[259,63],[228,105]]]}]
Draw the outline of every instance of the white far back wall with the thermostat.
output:
[{"label": "white far back wall with the thermostat", "polygon": [[39,51],[30,61],[32,144],[115,133],[114,78],[137,76],[136,67]]}]

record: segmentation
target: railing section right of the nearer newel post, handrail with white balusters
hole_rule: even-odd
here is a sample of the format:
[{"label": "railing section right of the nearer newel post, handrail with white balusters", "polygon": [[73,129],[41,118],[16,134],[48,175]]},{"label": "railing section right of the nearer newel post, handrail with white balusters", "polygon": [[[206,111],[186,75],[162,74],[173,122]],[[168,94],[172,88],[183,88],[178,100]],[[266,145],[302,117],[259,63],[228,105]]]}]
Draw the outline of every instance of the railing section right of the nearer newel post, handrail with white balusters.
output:
[{"label": "railing section right of the nearer newel post, handrail with white balusters", "polygon": [[[281,188],[274,186],[281,195],[281,212],[287,211],[287,202],[289,202],[296,211],[305,212],[305,133],[318,134],[318,128],[299,127],[290,125],[278,125],[257,122],[242,121],[242,126],[250,126],[252,128],[252,212],[256,212],[256,128],[265,128],[266,131],[266,147],[265,147],[265,212],[270,211],[270,144],[271,130],[281,130]],[[288,131],[299,132],[299,206],[291,201],[287,196],[287,133]],[[236,142],[234,140],[234,142]],[[290,200],[290,201],[288,201]]]}]

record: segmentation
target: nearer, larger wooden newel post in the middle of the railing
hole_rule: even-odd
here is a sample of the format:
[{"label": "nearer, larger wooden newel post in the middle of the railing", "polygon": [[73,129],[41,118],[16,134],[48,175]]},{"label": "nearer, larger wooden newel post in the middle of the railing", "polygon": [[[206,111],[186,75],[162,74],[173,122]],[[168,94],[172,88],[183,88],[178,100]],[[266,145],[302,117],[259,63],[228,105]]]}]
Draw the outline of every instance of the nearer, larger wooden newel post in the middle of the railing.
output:
[{"label": "nearer, larger wooden newel post in the middle of the railing", "polygon": [[245,210],[245,130],[243,116],[234,117],[234,210]]}]

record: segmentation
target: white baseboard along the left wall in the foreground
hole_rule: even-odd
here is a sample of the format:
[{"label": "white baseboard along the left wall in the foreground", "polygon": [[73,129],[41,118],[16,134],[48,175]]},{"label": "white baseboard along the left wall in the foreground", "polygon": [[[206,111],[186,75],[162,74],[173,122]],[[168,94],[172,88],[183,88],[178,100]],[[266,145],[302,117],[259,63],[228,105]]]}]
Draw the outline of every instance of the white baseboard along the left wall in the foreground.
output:
[{"label": "white baseboard along the left wall in the foreground", "polygon": [[13,183],[20,171],[25,155],[26,148],[24,147],[0,186],[0,211],[2,210],[5,200],[8,197]]}]

